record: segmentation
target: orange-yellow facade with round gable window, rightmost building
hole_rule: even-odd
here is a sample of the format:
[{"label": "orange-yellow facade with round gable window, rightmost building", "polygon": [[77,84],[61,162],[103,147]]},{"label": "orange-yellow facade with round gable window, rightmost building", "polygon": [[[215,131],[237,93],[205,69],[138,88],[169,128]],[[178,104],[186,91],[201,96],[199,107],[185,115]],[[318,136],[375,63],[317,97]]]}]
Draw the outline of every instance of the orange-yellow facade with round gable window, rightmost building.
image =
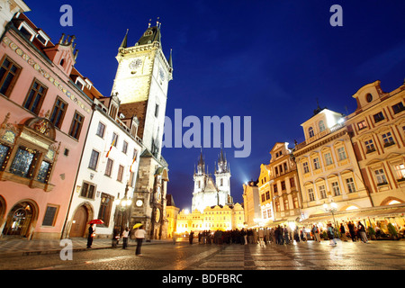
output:
[{"label": "orange-yellow facade with round gable window, rightmost building", "polygon": [[405,202],[405,84],[390,93],[380,81],[360,88],[347,128],[374,206]]}]

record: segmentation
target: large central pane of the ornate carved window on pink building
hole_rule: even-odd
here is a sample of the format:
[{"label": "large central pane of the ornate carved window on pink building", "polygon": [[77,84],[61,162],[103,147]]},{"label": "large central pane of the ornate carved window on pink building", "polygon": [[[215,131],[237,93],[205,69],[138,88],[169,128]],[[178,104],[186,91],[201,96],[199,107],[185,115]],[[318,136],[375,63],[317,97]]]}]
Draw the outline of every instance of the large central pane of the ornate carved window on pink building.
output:
[{"label": "large central pane of the ornate carved window on pink building", "polygon": [[15,154],[14,161],[10,166],[10,172],[24,178],[31,179],[32,168],[35,165],[37,151],[20,146]]}]

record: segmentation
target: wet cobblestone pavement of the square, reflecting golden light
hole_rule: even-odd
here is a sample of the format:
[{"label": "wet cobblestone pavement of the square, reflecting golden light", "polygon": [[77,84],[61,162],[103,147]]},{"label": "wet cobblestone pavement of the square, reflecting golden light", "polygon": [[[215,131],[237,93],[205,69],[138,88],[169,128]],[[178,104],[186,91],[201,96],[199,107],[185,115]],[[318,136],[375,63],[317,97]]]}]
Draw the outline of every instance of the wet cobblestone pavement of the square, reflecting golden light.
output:
[{"label": "wet cobblestone pavement of the square, reflecting golden light", "polygon": [[[95,242],[95,241],[94,241]],[[76,243],[80,244],[80,243]],[[405,270],[405,241],[341,242],[308,241],[291,245],[189,245],[155,242],[142,247],[135,257],[135,245],[110,248],[100,241],[98,249],[78,249],[73,260],[62,261],[56,252],[14,254],[2,257],[1,270]],[[80,244],[81,245],[81,244]],[[103,247],[103,248],[102,248]],[[107,248],[108,247],[108,248]],[[60,247],[59,247],[60,250]],[[5,255],[5,254],[3,254]]]}]

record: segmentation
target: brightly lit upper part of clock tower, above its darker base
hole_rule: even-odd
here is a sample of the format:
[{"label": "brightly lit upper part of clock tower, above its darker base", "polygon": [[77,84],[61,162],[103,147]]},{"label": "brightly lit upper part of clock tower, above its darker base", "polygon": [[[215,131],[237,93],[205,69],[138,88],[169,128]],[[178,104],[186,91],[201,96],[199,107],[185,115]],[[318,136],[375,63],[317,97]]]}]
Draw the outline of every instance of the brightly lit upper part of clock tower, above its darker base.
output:
[{"label": "brightly lit upper part of clock tower, above its darker base", "polygon": [[118,93],[121,112],[137,116],[138,136],[156,157],[160,157],[166,114],[167,88],[173,79],[172,56],[162,50],[160,23],[149,27],[134,46],[128,47],[128,31],[122,40],[112,94]]}]

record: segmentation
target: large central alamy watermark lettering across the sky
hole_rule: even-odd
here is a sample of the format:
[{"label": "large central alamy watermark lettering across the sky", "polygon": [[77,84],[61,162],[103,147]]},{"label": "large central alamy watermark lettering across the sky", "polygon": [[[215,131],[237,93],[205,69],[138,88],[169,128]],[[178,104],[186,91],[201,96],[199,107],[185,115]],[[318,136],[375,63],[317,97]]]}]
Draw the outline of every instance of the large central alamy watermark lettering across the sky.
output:
[{"label": "large central alamy watermark lettering across the sky", "polygon": [[[184,130],[186,128],[186,130]],[[223,134],[223,140],[222,140]],[[249,157],[252,149],[251,116],[186,116],[175,109],[175,119],[165,118],[164,148],[236,148],[234,157]]]}]

